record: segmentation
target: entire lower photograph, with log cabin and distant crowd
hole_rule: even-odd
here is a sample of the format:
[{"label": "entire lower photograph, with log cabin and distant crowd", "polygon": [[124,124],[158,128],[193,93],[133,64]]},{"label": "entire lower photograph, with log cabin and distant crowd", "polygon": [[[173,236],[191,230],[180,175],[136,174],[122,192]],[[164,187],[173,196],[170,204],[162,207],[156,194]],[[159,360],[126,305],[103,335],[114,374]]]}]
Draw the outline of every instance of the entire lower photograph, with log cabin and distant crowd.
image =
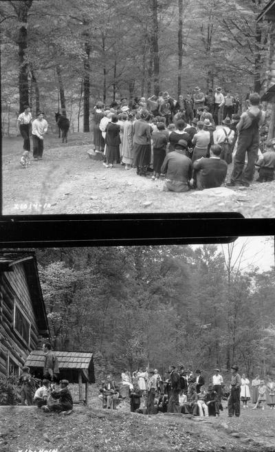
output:
[{"label": "entire lower photograph, with log cabin and distant crowd", "polygon": [[0,250],[0,449],[274,451],[274,237]]}]

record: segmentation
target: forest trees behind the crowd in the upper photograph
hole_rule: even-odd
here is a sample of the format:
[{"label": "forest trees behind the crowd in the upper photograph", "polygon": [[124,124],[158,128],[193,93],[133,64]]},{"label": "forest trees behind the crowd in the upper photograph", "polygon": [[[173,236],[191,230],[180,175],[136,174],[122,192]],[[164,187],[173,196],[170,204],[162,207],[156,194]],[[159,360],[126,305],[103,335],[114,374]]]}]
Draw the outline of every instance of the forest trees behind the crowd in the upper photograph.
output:
[{"label": "forest trees behind the crowd in the upper photograph", "polygon": [[[15,131],[30,103],[54,125],[67,110],[72,131],[87,132],[96,100],[178,96],[221,85],[241,98],[265,83],[267,0],[3,1],[2,133]],[[80,130],[81,129],[81,130]]]}]

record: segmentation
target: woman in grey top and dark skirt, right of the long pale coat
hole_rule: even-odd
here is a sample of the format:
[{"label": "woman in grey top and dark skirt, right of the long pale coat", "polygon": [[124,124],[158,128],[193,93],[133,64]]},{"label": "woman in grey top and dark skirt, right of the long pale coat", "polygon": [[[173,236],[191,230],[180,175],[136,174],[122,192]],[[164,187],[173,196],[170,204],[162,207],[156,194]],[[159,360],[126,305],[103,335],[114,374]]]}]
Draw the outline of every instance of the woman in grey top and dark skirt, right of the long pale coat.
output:
[{"label": "woman in grey top and dark skirt, right of the long pale coat", "polygon": [[142,110],[140,119],[133,123],[133,164],[137,167],[137,174],[142,176],[146,176],[151,161],[150,119],[148,111]]}]

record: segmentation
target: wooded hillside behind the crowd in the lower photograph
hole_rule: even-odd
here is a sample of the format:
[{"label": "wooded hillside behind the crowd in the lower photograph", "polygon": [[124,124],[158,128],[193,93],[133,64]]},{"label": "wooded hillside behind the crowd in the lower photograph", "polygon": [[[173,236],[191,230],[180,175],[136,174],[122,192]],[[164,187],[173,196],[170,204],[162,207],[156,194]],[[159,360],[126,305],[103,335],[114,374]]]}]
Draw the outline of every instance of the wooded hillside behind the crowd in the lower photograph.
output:
[{"label": "wooded hillside behind the crowd in the lower photograph", "polygon": [[274,268],[234,247],[36,250],[54,347],[94,352],[104,376],[170,363],[275,373]]}]

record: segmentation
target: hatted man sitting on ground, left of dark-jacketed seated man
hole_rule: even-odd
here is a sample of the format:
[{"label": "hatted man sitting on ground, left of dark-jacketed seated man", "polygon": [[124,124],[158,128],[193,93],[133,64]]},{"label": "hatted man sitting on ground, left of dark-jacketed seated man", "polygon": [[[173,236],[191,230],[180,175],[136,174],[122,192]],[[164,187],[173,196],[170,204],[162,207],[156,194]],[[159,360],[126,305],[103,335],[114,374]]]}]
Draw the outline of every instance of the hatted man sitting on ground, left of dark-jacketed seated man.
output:
[{"label": "hatted man sitting on ground, left of dark-jacketed seated man", "polygon": [[192,162],[186,157],[188,144],[179,140],[175,151],[169,152],[164,158],[161,172],[166,174],[164,191],[185,192],[190,190],[189,181],[192,177]]}]

